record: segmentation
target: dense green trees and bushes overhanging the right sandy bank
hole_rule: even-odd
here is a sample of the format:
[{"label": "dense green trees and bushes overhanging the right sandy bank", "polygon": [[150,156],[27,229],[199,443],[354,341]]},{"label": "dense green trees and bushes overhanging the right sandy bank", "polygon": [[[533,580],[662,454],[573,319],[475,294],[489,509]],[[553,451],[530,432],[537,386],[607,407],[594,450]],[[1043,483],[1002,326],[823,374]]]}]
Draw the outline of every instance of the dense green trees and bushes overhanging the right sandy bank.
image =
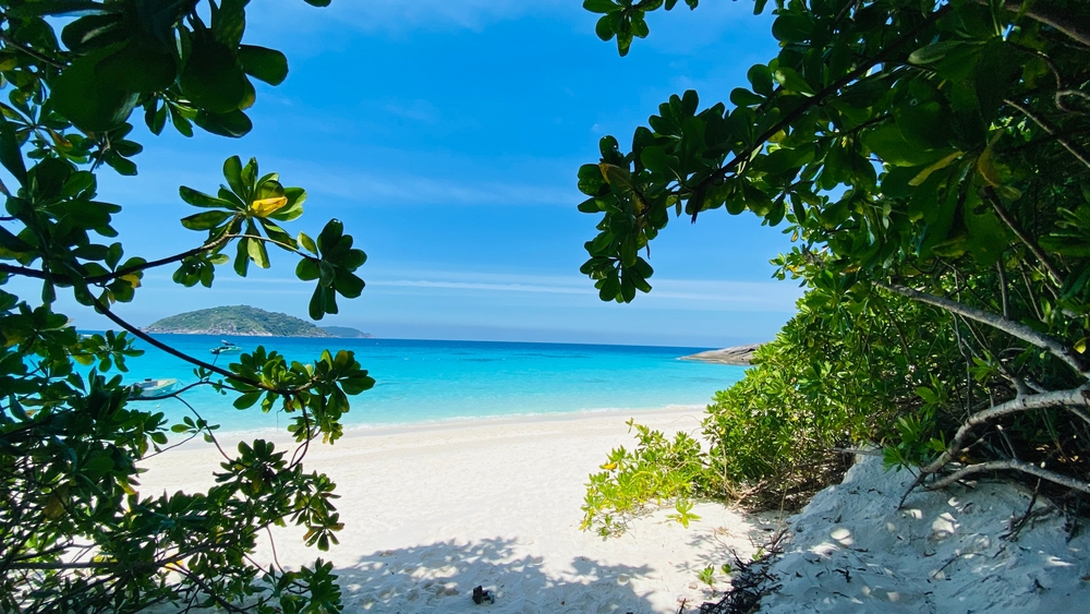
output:
[{"label": "dense green trees and bushes overhanging the right sandy bank", "polygon": [[[622,55],[675,4],[584,2]],[[748,210],[791,237],[777,276],[807,294],[710,406],[701,470],[647,486],[630,468],[665,448],[643,437],[592,477],[589,522],[663,494],[790,497],[867,441],[927,487],[1000,471],[1090,493],[1090,5],[773,7],[780,52],[729,105],[673,96],[631,151],[607,136],[580,169],[579,208],[601,217],[582,270],[631,301],[671,213]]]}]

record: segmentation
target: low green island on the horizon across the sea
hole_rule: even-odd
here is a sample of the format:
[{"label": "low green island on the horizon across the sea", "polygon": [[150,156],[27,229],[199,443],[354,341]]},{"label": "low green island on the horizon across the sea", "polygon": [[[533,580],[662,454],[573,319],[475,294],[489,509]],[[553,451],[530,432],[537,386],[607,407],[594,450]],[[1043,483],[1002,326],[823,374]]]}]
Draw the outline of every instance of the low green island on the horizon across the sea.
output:
[{"label": "low green island on the horizon across the sea", "polygon": [[190,311],[164,317],[143,328],[145,333],[173,335],[234,335],[243,337],[356,337],[372,338],[348,326],[316,326],[311,322],[250,305]]}]

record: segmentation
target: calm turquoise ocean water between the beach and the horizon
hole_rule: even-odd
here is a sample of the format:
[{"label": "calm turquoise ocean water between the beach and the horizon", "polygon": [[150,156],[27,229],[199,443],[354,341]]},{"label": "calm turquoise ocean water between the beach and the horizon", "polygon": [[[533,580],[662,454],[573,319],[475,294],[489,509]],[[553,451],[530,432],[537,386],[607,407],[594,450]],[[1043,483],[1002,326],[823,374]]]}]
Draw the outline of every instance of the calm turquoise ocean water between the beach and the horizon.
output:
[{"label": "calm turquoise ocean water between the beach and the horizon", "polygon": [[[191,356],[211,361],[209,349],[221,337],[157,335]],[[715,390],[741,378],[743,368],[678,360],[707,348],[516,344],[492,341],[422,341],[399,339],[312,339],[298,337],[231,337],[243,351],[258,345],[289,360],[313,362],[323,349],[355,351],[356,360],[376,380],[375,387],[351,397],[346,428],[603,410],[661,409],[704,406]],[[128,361],[126,382],[144,377],[196,381],[187,363],[137,341],[146,353]],[[217,364],[237,360],[219,357]],[[233,397],[209,387],[183,397],[222,431],[282,428],[282,413],[240,411]],[[187,414],[177,400],[155,401],[168,418]]]}]

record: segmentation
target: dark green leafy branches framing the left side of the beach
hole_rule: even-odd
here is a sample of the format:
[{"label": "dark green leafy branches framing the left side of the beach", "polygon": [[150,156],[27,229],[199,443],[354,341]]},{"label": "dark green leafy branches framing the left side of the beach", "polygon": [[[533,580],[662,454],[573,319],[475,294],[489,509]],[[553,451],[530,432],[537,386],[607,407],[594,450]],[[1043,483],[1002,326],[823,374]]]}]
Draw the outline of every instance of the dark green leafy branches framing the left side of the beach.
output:
[{"label": "dark green leafy branches framing the left side of the beach", "polygon": [[[325,5],[328,0],[306,0]],[[286,188],[255,160],[223,165],[216,195],[181,188],[199,207],[181,220],[205,239],[192,250],[148,261],[113,240],[122,207],[96,200],[104,170],[134,174],[142,146],[130,122],[191,135],[194,124],[226,136],[250,128],[252,79],[276,85],[288,65],[272,49],[242,43],[246,0],[0,0],[0,164],[10,178],[0,216],[0,611],[136,612],[154,604],[232,612],[332,612],[340,589],[332,565],[286,570],[252,558],[276,525],[295,525],[326,550],[341,523],[334,484],[306,472],[311,442],[341,435],[350,395],[374,381],[351,352],[304,362],[258,347],[229,366],[185,356],[125,322],[116,302],[140,294],[150,269],[177,267],[183,286],[210,286],[231,258],[245,276],[269,266],[267,246],[296,257],[314,280],[311,316],[337,312],[336,296],[358,297],[362,251],[337,220],[315,239],[289,234],[305,192]],[[202,16],[204,15],[204,16]],[[209,19],[210,17],[210,19]],[[104,165],[112,168],[105,169]],[[12,182],[11,184],[8,184]],[[154,232],[164,232],[157,228]],[[19,297],[8,282],[40,284]],[[25,287],[25,286],[24,286]],[[53,312],[60,292],[124,332],[84,337]],[[133,336],[195,366],[196,385],[234,397],[245,409],[292,417],[295,449],[268,442],[221,447],[201,416],[170,424],[131,398],[120,375],[140,356]],[[84,365],[88,369],[77,369]],[[215,377],[215,380],[214,380]],[[140,492],[142,461],[181,440],[204,437],[223,456],[216,485],[203,493]]]}]

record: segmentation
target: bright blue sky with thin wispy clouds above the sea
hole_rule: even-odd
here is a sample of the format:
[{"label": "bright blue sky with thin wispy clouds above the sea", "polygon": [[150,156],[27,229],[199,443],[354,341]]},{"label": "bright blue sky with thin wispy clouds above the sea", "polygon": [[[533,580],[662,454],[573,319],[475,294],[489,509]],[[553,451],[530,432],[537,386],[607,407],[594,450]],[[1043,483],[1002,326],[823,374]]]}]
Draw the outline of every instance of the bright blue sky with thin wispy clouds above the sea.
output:
[{"label": "bright blue sky with thin wispy clouds above the sea", "polygon": [[[673,220],[652,244],[655,289],[602,303],[579,274],[594,216],[580,214],[576,170],[605,134],[630,141],[670,94],[725,100],[746,70],[776,53],[751,2],[655,13],[627,58],[593,33],[578,0],[301,0],[251,5],[247,43],[283,50],[291,73],[258,84],[255,130],[138,139],[137,178],[106,170],[104,200],[129,254],[196,245],[178,185],[213,192],[230,155],[256,156],[307,190],[291,231],[338,217],[368,254],[363,296],[324,323],[390,338],[719,347],[771,338],[800,290],[770,278],[787,245],[778,229],[725,212]],[[135,119],[135,118],[134,118]],[[169,132],[169,128],[168,131]],[[246,279],[225,269],[211,289],[149,274],[119,313],[145,325],[192,309],[247,303],[305,316],[310,284],[291,258]],[[83,327],[94,314],[62,302]]]}]

